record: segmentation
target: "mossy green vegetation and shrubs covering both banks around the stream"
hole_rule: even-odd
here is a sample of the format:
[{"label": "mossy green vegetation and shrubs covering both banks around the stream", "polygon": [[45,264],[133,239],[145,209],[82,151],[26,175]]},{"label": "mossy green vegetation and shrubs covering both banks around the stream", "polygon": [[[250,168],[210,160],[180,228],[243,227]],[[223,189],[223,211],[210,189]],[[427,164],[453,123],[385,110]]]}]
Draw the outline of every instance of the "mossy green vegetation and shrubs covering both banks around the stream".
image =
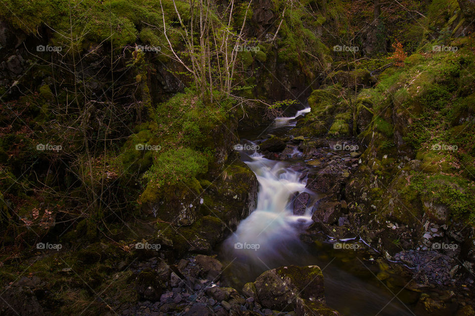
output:
[{"label": "mossy green vegetation and shrubs covering both banks around the stream", "polygon": [[[257,190],[232,153],[238,127],[305,101],[293,136],[362,144],[345,194],[366,231],[455,223],[473,272],[474,12],[462,0],[2,3],[2,283],[38,277],[32,301],[54,315],[137,302],[127,267],[152,255],[135,243],[160,235],[171,261],[211,251]],[[382,249],[407,244],[383,232]]]}]

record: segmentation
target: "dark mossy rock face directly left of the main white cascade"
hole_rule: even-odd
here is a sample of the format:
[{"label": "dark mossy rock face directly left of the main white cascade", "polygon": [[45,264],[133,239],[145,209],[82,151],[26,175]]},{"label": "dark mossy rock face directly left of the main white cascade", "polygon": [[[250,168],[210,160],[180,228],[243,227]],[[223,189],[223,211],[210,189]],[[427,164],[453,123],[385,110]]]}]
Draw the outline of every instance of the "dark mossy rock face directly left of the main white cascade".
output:
[{"label": "dark mossy rock face directly left of the main white cascade", "polygon": [[[255,174],[237,154],[230,155],[227,163],[219,177],[203,182],[201,190],[204,192],[190,203],[196,206],[195,210],[188,208],[187,214],[196,214],[190,225],[159,225],[157,242],[165,245],[170,255],[186,251],[211,253],[212,248],[255,209],[258,189]],[[173,208],[167,214],[177,215]]]}]

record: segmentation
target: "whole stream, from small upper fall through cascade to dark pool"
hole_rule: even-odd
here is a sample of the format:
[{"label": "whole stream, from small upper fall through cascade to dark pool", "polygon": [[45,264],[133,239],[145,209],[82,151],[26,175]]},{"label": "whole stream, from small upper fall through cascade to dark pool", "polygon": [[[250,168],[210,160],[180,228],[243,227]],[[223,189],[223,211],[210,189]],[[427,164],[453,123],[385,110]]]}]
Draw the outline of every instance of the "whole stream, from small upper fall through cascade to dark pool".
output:
[{"label": "whole stream, from small upper fall through cascade to dark pool", "polygon": [[[275,128],[285,130],[309,111],[277,118]],[[224,271],[225,280],[230,285],[241,288],[262,272],[279,266],[318,265],[324,274],[327,304],[343,315],[414,315],[395,298],[399,291],[399,296],[408,291],[386,288],[376,278],[379,269],[368,252],[333,249],[324,237],[313,244],[301,241],[300,235],[312,223],[312,214],[307,209],[303,216],[293,215],[293,200],[302,192],[309,193],[313,201],[319,196],[305,189],[307,179],[299,168],[292,168],[295,161],[271,160],[257,152],[240,154],[256,174],[259,192],[256,209],[221,247],[221,259],[229,265]]]}]

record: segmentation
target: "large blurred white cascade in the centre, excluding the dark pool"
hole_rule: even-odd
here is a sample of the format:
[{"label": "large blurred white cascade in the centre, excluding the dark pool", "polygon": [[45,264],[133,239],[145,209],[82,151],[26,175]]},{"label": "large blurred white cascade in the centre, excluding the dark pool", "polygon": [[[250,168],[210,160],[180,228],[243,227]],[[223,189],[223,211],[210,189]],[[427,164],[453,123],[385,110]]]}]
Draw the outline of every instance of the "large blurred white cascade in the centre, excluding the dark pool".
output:
[{"label": "large blurred white cascade in the centre, excluding the dark pool", "polygon": [[[298,235],[312,223],[310,214],[294,216],[290,202],[295,193],[305,191],[306,179],[284,162],[254,154],[246,164],[259,182],[256,209],[238,226],[224,246],[227,252],[254,262],[273,261],[299,243]],[[242,247],[240,247],[242,245]]]}]

